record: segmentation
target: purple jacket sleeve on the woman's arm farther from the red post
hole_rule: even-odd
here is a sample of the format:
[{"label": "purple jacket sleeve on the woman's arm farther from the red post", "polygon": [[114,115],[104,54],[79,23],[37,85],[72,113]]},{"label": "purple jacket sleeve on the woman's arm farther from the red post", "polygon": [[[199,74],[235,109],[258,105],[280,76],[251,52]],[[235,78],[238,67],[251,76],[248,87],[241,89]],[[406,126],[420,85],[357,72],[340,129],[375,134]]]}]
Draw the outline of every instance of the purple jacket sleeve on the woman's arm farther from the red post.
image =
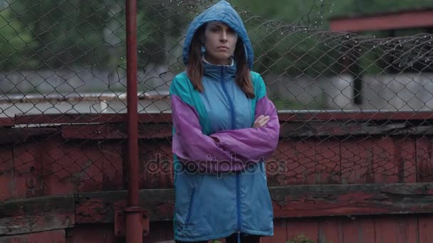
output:
[{"label": "purple jacket sleeve on the woman's arm farther from the red post", "polygon": [[256,104],[255,119],[260,115],[269,116],[264,127],[218,131],[210,136],[219,140],[219,146],[236,153],[251,162],[271,156],[278,144],[280,122],[276,108],[266,95]]}]

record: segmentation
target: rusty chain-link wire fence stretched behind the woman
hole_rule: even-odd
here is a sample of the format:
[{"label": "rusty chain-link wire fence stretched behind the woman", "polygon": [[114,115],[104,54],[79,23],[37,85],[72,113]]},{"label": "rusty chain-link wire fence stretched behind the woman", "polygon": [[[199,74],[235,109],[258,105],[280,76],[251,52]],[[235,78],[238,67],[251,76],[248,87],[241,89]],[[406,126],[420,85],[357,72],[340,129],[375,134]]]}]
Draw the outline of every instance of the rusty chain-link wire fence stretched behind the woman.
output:
[{"label": "rusty chain-link wire fence stretched behind the woman", "polygon": [[[168,89],[214,3],[138,2],[141,188],[172,186]],[[433,35],[333,33],[316,7],[296,24],[236,8],[282,122],[269,185],[429,180]],[[125,188],[124,3],[3,1],[0,17],[4,198]]]}]

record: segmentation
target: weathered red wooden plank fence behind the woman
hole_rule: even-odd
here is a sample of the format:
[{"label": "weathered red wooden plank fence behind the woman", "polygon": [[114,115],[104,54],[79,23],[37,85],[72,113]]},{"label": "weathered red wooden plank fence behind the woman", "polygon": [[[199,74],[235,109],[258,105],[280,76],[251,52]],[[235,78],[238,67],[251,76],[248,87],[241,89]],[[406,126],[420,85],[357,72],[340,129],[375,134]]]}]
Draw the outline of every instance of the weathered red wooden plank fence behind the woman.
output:
[{"label": "weathered red wooden plank fence behind the woman", "polygon": [[[383,126],[385,120],[382,120],[386,117],[373,114],[353,123],[346,120],[347,114],[344,117],[319,112],[310,121],[296,121],[299,117],[285,116],[281,116],[281,134],[288,139],[280,141],[269,160],[278,161],[287,170],[282,174],[271,168],[267,171],[274,215],[280,223],[276,224],[275,238],[266,237],[262,242],[289,239],[296,232],[311,234],[320,240],[332,239],[333,242],[362,242],[361,239],[364,242],[387,242],[396,239],[395,235],[405,234],[397,238],[410,242],[412,234],[417,235],[411,217],[419,217],[420,242],[429,242],[432,231],[428,225],[433,220],[422,217],[424,213],[433,212],[429,122],[424,121],[424,126],[417,126],[416,130],[412,124],[417,124],[417,115],[411,119],[407,114],[399,114],[402,120],[386,121],[387,126]],[[329,116],[334,120],[325,124],[320,122],[319,119],[329,119]],[[41,121],[53,118],[48,116]],[[110,116],[72,119],[94,119],[102,124],[4,128],[22,129],[21,134],[27,137],[21,136],[19,141],[10,138],[14,142],[5,143],[0,148],[0,181],[4,182],[0,185],[1,200],[7,200],[9,205],[20,205],[19,199],[27,198],[28,205],[40,205],[48,200],[45,196],[51,195],[50,200],[64,197],[63,193],[72,196],[68,199],[71,202],[58,202],[49,214],[44,211],[47,209],[41,209],[40,213],[33,210],[33,215],[21,212],[21,215],[16,213],[3,217],[5,210],[0,210],[3,220],[0,225],[21,225],[9,234],[21,236],[35,230],[66,229],[67,240],[80,242],[86,239],[85,234],[88,237],[92,234],[92,231],[78,229],[80,224],[93,225],[93,232],[104,227],[107,229],[108,224],[110,232],[101,231],[105,238],[93,237],[93,242],[103,242],[103,239],[115,242],[115,210],[127,208],[127,192],[124,190],[127,188],[126,126],[118,123],[125,121],[125,117],[113,118],[118,119],[113,123]],[[140,188],[145,190],[140,190],[140,206],[148,210],[150,225],[163,222],[171,225],[174,208],[170,166],[171,117],[169,114],[143,114],[141,119],[144,122],[137,123],[137,138],[140,139],[137,171]],[[153,119],[157,122],[151,122]],[[53,134],[54,130],[56,134]],[[325,140],[317,139],[325,136]],[[155,154],[160,157],[155,157]],[[98,190],[105,191],[95,192]],[[0,208],[4,205],[0,203]],[[72,216],[63,206],[73,209]],[[399,216],[380,216],[390,214]],[[328,218],[330,215],[335,216]],[[355,220],[338,221],[338,216],[348,215],[359,216],[355,216]],[[64,220],[66,216],[72,217],[73,223]],[[304,220],[306,217],[315,218]],[[53,226],[53,222],[57,226]],[[407,230],[400,225],[405,225]],[[142,232],[143,228],[140,230]],[[163,231],[153,228],[152,233],[158,230]],[[384,230],[386,234],[374,234],[375,230]],[[348,233],[340,234],[342,231]],[[355,232],[358,233],[355,235]],[[147,242],[172,239],[172,232],[165,237],[162,234],[161,237],[152,236],[152,233],[144,238]]]}]

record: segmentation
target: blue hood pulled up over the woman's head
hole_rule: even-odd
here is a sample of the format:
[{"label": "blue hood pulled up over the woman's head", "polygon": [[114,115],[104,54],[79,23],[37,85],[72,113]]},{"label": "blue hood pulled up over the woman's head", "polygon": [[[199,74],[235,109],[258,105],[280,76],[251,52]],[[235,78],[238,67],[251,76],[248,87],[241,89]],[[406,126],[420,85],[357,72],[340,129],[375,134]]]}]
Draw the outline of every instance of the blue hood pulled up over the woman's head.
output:
[{"label": "blue hood pulled up over the woman's head", "polygon": [[239,38],[244,42],[246,60],[248,61],[249,69],[253,68],[254,52],[251,46],[251,41],[249,41],[248,34],[244,26],[244,22],[241,16],[233,9],[233,7],[227,1],[219,1],[214,6],[201,13],[194,21],[189,25],[188,33],[184,42],[183,59],[184,64],[188,64],[188,52],[189,45],[191,45],[194,33],[200,26],[204,23],[209,23],[212,21],[220,21],[226,23],[226,25],[233,28],[236,33],[238,33]]}]

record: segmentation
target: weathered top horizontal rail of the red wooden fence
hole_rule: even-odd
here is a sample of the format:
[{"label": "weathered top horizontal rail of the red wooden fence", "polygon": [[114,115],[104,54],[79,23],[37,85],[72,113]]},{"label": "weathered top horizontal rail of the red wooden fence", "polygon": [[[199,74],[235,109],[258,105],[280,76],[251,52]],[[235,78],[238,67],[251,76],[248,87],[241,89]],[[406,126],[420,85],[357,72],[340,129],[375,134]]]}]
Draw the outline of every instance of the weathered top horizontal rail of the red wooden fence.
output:
[{"label": "weathered top horizontal rail of the red wooden fence", "polygon": [[[172,136],[172,125],[165,123],[137,124],[138,139],[164,139]],[[63,124],[33,128],[10,128],[0,131],[0,144],[11,144],[34,136],[61,133],[64,139],[107,140],[127,139],[125,124]],[[415,126],[407,121],[392,124],[375,124],[372,121],[284,122],[281,121],[281,138],[308,138],[319,136],[422,136],[432,135],[433,125]]]}]

